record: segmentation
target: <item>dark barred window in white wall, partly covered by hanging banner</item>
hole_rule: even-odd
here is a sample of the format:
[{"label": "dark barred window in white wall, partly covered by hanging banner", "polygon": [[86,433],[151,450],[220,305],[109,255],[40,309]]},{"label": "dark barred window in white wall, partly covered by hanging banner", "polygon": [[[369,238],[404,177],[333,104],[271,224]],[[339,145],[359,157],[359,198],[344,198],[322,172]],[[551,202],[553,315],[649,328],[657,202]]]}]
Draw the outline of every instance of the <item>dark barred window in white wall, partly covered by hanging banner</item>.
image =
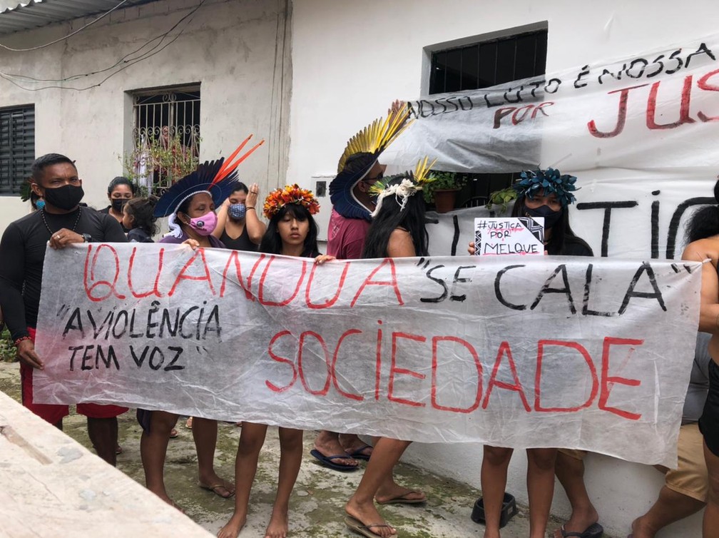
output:
[{"label": "dark barred window in white wall, partly covered by hanging banner", "polygon": [[[547,29],[479,40],[469,45],[431,53],[429,94],[490,88],[499,84],[544,75]],[[510,186],[518,173],[467,174],[460,204],[487,203],[490,193]],[[464,201],[462,201],[462,199]]]}]

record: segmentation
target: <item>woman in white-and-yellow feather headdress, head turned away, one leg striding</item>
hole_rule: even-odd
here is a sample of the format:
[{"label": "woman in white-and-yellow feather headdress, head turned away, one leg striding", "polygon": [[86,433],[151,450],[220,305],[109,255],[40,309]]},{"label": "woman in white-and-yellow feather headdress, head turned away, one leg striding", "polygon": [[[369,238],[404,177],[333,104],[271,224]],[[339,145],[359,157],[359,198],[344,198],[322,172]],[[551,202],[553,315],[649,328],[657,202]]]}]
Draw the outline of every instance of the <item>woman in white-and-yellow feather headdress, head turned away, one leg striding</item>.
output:
[{"label": "woman in white-and-yellow feather headdress, head turned away, one leg striding", "polygon": [[[424,225],[425,209],[421,191],[431,181],[427,177],[431,165],[427,165],[425,158],[417,164],[415,173],[377,181],[370,188],[371,193],[377,194],[377,206],[372,213],[372,224],[367,231],[362,257],[415,257],[428,254],[429,238]],[[353,532],[366,537],[390,537],[397,534],[394,527],[380,516],[375,499],[379,504],[416,504],[427,500],[421,491],[402,488],[393,478],[393,468],[410,443],[388,437],[375,442],[365,475],[344,507],[347,512],[344,522]]]}]

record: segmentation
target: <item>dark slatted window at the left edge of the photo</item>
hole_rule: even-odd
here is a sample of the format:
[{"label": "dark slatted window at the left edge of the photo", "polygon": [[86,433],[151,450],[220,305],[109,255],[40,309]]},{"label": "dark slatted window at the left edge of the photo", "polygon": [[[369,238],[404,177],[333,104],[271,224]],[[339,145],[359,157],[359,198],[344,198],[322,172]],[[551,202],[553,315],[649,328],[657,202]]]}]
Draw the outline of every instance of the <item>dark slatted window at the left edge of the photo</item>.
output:
[{"label": "dark slatted window at the left edge of the photo", "polygon": [[0,109],[0,196],[15,196],[35,160],[35,105]]}]

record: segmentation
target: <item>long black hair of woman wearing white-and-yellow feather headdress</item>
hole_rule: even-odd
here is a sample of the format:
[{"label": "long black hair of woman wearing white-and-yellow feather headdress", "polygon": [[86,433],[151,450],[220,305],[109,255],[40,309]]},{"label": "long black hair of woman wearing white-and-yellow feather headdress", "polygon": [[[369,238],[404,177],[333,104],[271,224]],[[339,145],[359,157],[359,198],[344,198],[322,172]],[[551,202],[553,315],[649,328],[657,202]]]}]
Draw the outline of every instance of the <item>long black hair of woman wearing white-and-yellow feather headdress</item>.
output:
[{"label": "long black hair of woman wearing white-and-yellow feather headdress", "polygon": [[[404,175],[391,178],[387,182],[387,186],[401,183],[405,178]],[[395,196],[392,194],[386,196],[377,216],[372,219],[370,229],[367,230],[362,257],[386,257],[390,235],[397,228],[403,228],[409,232],[414,244],[415,255],[428,255],[429,234],[425,227],[424,212],[424,199],[421,192],[408,196],[404,209],[398,204]]]}]

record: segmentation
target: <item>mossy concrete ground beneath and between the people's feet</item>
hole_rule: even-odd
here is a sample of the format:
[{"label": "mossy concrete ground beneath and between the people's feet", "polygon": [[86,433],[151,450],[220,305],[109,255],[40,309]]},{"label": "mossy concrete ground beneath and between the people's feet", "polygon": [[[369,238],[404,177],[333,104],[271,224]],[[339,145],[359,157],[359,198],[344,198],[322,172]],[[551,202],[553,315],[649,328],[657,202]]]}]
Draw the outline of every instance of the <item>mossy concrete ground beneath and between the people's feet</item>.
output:
[{"label": "mossy concrete ground beneath and between the people's feet", "polygon": [[[0,362],[0,391],[19,401],[19,366],[17,363]],[[64,431],[70,437],[89,447],[83,416],[73,413],[65,419]],[[142,464],[139,457],[141,429],[134,419],[134,412],[119,417],[119,439],[123,452],[118,456],[117,467],[129,477],[144,484]],[[232,479],[234,455],[241,429],[234,424],[220,424],[215,465],[219,475]],[[184,419],[178,421],[179,437],[170,439],[165,465],[165,483],[168,493],[182,506],[186,514],[212,534],[232,515],[234,498],[224,499],[198,488],[196,454],[192,433],[184,427]],[[290,503],[290,536],[296,538],[350,537],[344,525],[344,502],[357,487],[362,470],[339,473],[313,462],[309,455],[314,432],[306,432],[306,458],[300,470],[293,498]],[[257,478],[250,498],[247,525],[241,538],[263,537],[270,519],[277,483],[279,462],[277,429],[270,428],[265,447],[260,454]],[[472,465],[472,468],[477,468]],[[398,483],[421,488],[429,501],[425,506],[383,506],[385,518],[398,529],[403,538],[429,537],[482,537],[484,526],[470,519],[472,506],[480,492],[467,485],[434,475],[428,470],[400,463],[395,475]],[[1,488],[1,486],[0,486]],[[549,529],[561,522],[551,519]],[[503,529],[504,538],[527,537],[529,534],[527,509],[519,507],[519,514]],[[547,533],[550,536],[551,532]],[[605,534],[605,537],[608,537]]]}]

